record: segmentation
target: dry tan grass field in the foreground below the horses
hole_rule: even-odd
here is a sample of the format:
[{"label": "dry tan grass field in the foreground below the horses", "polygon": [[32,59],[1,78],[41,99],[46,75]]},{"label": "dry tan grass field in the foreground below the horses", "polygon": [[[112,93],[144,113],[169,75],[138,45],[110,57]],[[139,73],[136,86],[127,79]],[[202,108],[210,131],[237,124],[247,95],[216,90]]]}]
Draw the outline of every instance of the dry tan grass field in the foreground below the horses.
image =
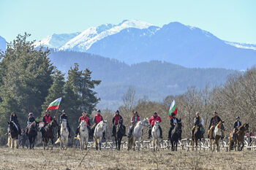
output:
[{"label": "dry tan grass field in the foreground below the horses", "polygon": [[256,152],[170,150],[12,150],[0,147],[0,169],[255,169]]}]

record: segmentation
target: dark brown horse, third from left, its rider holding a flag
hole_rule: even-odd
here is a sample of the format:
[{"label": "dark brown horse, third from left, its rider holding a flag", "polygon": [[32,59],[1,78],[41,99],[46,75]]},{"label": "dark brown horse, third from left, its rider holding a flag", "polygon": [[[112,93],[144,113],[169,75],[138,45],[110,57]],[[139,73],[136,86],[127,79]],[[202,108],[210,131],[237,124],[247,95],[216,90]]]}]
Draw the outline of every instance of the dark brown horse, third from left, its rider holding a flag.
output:
[{"label": "dark brown horse, third from left, its rider holding a flag", "polygon": [[[45,130],[42,132],[42,145],[45,150],[45,145],[48,147],[48,142],[51,140],[51,150],[53,150],[54,128],[59,128],[59,125],[55,118],[45,125]],[[49,149],[49,147],[48,147]]]}]

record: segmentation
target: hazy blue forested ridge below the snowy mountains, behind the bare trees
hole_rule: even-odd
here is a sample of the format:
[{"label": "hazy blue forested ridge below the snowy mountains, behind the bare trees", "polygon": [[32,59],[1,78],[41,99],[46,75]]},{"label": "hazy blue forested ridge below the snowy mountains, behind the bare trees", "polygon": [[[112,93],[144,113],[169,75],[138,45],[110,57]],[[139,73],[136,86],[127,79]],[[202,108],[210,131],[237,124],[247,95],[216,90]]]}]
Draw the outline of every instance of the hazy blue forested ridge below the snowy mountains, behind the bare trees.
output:
[{"label": "hazy blue forested ridge below the snowy mountains, behind the bare trees", "polygon": [[136,90],[136,98],[147,96],[151,101],[162,101],[168,95],[184,93],[187,87],[198,89],[222,85],[230,69],[189,69],[165,61],[150,61],[128,65],[116,59],[73,51],[54,51],[49,55],[53,64],[65,73],[74,63],[80,69],[89,68],[94,80],[102,80],[95,89],[101,98],[99,108],[116,109],[129,86]]}]

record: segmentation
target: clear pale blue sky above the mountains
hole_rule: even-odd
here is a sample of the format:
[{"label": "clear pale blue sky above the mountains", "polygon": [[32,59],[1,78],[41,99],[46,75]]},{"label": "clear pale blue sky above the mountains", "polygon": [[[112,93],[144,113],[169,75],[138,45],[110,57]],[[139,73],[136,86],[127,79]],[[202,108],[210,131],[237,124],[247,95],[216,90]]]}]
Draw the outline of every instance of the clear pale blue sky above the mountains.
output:
[{"label": "clear pale blue sky above the mountains", "polygon": [[256,44],[255,0],[0,0],[0,36],[7,42],[25,31],[39,40],[124,19],[157,26],[178,21],[220,39]]}]

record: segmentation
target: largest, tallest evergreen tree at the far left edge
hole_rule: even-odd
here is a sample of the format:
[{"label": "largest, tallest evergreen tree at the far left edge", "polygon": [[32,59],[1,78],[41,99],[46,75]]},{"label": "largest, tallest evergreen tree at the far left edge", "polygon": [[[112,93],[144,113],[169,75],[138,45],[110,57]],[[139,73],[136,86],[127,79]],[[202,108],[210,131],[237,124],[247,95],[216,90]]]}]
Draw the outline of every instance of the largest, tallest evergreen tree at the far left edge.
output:
[{"label": "largest, tallest evergreen tree at the far left edge", "polygon": [[[29,112],[34,112],[36,117],[40,115],[53,82],[53,66],[48,58],[50,51],[35,49],[34,42],[27,40],[29,36],[26,33],[18,35],[8,43],[0,63],[1,120],[6,122],[10,112],[15,111],[21,126],[26,124]],[[6,123],[1,123],[0,127],[6,130]]]}]

